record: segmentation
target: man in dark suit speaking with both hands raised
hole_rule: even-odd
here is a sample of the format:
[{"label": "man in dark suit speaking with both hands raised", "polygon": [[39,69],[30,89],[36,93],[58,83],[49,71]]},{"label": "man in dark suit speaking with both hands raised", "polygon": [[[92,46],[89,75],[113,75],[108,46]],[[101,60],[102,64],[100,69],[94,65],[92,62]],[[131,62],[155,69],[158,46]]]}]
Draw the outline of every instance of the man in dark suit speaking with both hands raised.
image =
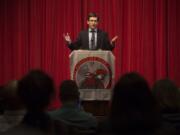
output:
[{"label": "man in dark suit speaking with both hands raised", "polygon": [[109,41],[108,34],[97,28],[98,22],[99,17],[95,13],[89,13],[87,19],[89,28],[81,31],[76,41],[72,42],[69,34],[64,34],[68,47],[71,50],[113,50],[118,36]]}]

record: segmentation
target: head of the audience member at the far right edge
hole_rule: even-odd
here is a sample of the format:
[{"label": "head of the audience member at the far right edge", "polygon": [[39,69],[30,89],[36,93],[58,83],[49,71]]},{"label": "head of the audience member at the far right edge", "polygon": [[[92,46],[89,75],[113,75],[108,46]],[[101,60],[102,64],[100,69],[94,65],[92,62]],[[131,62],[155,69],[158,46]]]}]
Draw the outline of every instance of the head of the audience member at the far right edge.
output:
[{"label": "head of the audience member at the far right edge", "polygon": [[161,79],[154,83],[152,92],[162,112],[180,112],[180,91],[170,79]]}]

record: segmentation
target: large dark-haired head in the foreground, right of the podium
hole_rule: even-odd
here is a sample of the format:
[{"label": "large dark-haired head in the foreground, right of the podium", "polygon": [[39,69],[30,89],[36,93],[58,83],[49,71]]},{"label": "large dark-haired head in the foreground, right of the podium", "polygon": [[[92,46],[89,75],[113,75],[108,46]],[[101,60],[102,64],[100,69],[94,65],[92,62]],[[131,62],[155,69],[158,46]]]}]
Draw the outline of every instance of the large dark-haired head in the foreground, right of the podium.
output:
[{"label": "large dark-haired head in the foreground, right of the podium", "polygon": [[110,111],[113,132],[148,131],[160,121],[148,82],[136,72],[126,73],[117,81]]}]

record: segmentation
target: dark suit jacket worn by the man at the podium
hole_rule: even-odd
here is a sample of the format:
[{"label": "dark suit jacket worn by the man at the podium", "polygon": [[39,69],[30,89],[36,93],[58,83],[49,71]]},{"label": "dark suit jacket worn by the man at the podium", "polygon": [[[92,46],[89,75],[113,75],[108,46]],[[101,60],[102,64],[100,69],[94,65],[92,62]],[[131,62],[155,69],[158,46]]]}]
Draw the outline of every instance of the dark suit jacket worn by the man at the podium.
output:
[{"label": "dark suit jacket worn by the man at the podium", "polygon": [[[78,50],[78,49],[90,50],[88,30],[81,31],[76,41],[72,42],[71,44],[68,44],[68,47],[71,50]],[[96,50],[98,49],[102,49],[102,50],[114,49],[114,44],[113,45],[110,44],[108,34],[100,29],[97,30]]]}]

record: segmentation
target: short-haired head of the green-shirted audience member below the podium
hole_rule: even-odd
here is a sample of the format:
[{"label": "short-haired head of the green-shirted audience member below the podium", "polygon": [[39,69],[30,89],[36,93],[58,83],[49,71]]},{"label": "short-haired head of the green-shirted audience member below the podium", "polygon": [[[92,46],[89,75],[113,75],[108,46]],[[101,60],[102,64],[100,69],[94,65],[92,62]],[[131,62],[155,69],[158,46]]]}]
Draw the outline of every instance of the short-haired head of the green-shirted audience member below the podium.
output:
[{"label": "short-haired head of the green-shirted audience member below the podium", "polygon": [[62,103],[68,102],[78,102],[79,101],[79,91],[78,86],[73,80],[65,80],[61,83],[59,87],[59,97]]}]

